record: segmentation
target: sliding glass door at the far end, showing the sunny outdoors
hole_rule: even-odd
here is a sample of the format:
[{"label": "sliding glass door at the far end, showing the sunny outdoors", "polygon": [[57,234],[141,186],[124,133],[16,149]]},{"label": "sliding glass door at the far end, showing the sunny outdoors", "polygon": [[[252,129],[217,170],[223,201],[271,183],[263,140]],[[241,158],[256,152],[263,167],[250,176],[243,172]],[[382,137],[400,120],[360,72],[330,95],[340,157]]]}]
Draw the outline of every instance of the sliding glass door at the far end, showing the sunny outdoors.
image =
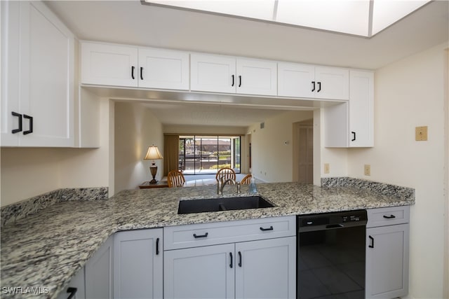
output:
[{"label": "sliding glass door at the far end, showing the sunny outdoors", "polygon": [[184,174],[216,174],[229,167],[240,173],[239,136],[180,136],[180,170]]}]

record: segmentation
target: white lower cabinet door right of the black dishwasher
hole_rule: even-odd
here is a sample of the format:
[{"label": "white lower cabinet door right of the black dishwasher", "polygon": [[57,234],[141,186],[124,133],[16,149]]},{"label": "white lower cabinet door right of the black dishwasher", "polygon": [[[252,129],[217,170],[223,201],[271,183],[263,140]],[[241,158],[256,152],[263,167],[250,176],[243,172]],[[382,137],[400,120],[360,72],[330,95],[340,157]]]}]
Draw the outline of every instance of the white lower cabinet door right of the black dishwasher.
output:
[{"label": "white lower cabinet door right of the black dishwasher", "polygon": [[366,230],[366,298],[408,293],[408,224]]}]

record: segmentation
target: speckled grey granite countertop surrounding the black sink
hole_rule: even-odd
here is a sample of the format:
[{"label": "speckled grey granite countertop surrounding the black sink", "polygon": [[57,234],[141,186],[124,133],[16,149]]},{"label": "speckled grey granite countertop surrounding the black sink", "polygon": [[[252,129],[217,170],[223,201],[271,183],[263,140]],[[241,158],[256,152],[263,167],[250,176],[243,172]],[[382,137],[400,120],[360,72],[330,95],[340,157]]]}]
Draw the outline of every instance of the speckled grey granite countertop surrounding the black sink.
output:
[{"label": "speckled grey granite countertop surrounding the black sink", "polygon": [[[248,195],[245,187],[242,187],[241,196]],[[177,214],[180,199],[217,197],[216,186],[123,190],[109,200],[56,202],[1,228],[2,298],[56,298],[103,242],[119,230],[415,203],[414,194],[404,196],[339,184],[319,187],[298,183],[262,183],[257,188],[260,195],[275,207]],[[235,196],[234,193],[235,186],[225,186],[222,196]],[[45,289],[39,296],[11,295],[4,291],[14,286],[24,290],[31,287]]]}]

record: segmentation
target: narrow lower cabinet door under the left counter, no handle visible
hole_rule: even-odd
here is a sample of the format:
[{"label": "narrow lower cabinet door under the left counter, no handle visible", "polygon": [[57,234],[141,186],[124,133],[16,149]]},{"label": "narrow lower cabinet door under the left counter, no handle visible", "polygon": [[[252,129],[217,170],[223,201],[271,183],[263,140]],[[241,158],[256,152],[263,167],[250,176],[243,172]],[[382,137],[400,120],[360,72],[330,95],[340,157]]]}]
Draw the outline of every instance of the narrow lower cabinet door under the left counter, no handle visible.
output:
[{"label": "narrow lower cabinet door under the left counter, no handle visible", "polygon": [[86,263],[86,298],[112,298],[112,246],[109,237]]}]

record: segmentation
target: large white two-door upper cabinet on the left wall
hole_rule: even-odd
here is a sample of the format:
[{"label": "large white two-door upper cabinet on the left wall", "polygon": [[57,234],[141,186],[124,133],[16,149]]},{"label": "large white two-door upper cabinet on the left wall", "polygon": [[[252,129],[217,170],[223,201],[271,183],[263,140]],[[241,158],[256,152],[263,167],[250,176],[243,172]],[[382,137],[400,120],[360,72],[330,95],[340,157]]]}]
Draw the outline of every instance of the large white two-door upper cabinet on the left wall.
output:
[{"label": "large white two-door upper cabinet on the left wall", "polygon": [[40,1],[1,1],[1,146],[74,145],[74,36]]}]

